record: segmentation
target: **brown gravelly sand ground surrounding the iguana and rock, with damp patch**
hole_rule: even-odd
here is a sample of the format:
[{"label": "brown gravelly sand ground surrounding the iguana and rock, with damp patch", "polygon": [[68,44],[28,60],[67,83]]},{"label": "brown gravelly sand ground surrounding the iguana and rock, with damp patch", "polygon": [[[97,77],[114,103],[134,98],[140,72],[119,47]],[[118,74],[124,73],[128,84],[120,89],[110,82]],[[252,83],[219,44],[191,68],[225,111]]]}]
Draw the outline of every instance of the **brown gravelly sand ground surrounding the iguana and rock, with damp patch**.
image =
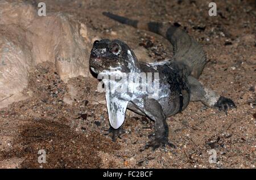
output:
[{"label": "brown gravelly sand ground surrounding the iguana and rock, with damp patch", "polygon": [[[37,5],[37,1],[28,1]],[[38,1],[39,2],[39,1]],[[208,1],[44,1],[48,12],[67,12],[99,37],[119,38],[152,59],[171,57],[170,44],[145,31],[101,15],[111,11],[138,20],[178,23],[207,52],[200,81],[232,98],[228,116],[191,102],[168,118],[176,149],[144,149],[154,123],[127,113],[125,134],[112,142],[104,94],[97,79],[61,81],[51,63],[30,72],[24,89],[31,98],[0,109],[0,168],[255,168],[256,164],[256,4],[214,1],[218,15],[208,15]],[[69,92],[69,93],[68,93]],[[38,151],[46,163],[38,163]],[[209,151],[217,163],[209,163]]]}]

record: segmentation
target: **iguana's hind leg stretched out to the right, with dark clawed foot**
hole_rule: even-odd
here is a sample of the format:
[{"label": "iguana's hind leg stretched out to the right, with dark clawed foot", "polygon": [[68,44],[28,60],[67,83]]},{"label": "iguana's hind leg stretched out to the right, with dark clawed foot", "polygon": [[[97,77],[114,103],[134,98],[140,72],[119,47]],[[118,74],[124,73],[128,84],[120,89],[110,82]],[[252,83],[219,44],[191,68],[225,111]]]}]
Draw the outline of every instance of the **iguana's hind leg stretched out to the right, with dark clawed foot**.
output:
[{"label": "iguana's hind leg stretched out to the right, with dark clawed foot", "polygon": [[218,108],[227,114],[228,108],[236,108],[230,98],[218,95],[217,92],[205,88],[196,78],[188,76],[188,83],[191,89],[191,101],[201,101],[211,108]]}]

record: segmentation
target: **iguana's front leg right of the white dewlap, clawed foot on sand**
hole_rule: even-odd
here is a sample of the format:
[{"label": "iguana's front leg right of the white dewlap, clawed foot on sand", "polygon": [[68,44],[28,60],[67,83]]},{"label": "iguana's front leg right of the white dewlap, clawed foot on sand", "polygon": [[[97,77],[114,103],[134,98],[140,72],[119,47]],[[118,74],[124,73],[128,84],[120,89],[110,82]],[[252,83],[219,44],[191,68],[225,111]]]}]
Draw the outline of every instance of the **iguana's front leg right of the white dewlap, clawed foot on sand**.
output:
[{"label": "iguana's front leg right of the white dewlap, clawed foot on sand", "polygon": [[[136,103],[136,101],[135,101]],[[163,113],[162,106],[154,98],[143,98],[137,104],[138,108],[155,122],[155,139],[146,144],[145,148],[152,147],[155,150],[158,147],[170,145],[175,148],[174,144],[168,142],[168,125],[166,116]]]}]

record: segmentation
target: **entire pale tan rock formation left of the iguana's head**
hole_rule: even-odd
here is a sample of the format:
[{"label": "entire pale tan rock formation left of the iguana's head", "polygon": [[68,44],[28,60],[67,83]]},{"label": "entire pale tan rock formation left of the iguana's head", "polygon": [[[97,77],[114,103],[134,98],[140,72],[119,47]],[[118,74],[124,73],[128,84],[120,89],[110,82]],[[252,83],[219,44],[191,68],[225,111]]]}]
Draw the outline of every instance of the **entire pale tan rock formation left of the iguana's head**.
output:
[{"label": "entire pale tan rock formation left of the iguana's head", "polygon": [[94,35],[73,16],[38,16],[28,3],[0,1],[0,17],[0,108],[27,98],[22,90],[38,63],[53,62],[64,82],[79,75],[92,77],[89,53]]}]

